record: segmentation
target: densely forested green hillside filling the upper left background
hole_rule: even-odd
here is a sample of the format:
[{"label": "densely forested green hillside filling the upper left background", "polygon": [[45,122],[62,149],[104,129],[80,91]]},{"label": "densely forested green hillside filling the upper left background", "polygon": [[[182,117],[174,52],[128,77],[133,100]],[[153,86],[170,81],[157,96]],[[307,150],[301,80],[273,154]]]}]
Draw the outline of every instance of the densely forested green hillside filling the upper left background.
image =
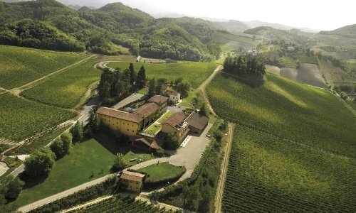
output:
[{"label": "densely forested green hillside filling the upper left background", "polygon": [[135,55],[175,60],[214,60],[210,44],[218,29],[198,18],[153,18],[112,3],[75,11],[55,0],[0,1],[0,44],[51,50],[120,55],[120,45]]}]

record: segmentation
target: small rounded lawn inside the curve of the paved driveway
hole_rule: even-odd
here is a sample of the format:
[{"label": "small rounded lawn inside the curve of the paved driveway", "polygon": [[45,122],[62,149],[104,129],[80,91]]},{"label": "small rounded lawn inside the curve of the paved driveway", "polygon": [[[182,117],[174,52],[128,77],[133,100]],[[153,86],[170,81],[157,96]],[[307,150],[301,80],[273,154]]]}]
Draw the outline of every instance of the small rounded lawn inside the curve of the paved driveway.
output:
[{"label": "small rounded lawn inside the curve of the paved driveway", "polygon": [[147,173],[146,181],[156,182],[163,179],[175,178],[177,175],[182,176],[185,173],[186,168],[169,164],[169,162],[164,162],[149,165],[145,168],[140,168],[137,171]]}]

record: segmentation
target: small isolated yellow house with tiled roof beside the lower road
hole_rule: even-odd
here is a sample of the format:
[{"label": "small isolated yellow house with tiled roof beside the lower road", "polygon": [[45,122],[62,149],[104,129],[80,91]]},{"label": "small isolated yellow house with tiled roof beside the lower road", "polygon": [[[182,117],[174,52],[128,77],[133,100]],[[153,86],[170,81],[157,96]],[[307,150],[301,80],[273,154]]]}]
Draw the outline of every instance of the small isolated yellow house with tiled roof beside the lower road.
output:
[{"label": "small isolated yellow house with tiled roof beside the lower road", "polygon": [[140,192],[145,175],[124,171],[120,176],[120,187],[133,192]]}]

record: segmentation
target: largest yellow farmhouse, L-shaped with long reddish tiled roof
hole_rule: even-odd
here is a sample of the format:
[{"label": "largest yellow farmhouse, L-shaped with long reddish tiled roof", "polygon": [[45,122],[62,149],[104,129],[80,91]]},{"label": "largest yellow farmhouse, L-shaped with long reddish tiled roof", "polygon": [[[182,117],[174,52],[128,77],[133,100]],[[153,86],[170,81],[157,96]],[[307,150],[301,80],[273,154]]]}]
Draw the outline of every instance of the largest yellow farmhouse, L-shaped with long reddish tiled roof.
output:
[{"label": "largest yellow farmhouse, L-shaped with long reddish tiled roof", "polygon": [[143,104],[132,113],[101,107],[97,115],[99,121],[110,129],[120,131],[127,136],[135,136],[167,110],[167,100],[167,97],[155,95],[147,104]]}]

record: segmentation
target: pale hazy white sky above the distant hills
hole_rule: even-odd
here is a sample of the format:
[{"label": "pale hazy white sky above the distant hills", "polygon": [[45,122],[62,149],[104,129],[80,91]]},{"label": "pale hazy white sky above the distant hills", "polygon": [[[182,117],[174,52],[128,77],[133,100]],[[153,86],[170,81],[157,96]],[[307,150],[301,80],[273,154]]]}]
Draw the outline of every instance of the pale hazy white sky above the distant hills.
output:
[{"label": "pale hazy white sky above the distant hills", "polygon": [[[239,21],[258,20],[315,30],[329,31],[356,23],[355,0],[130,0],[129,2],[132,5],[142,4],[189,16]],[[124,3],[127,4],[127,1],[124,0]],[[137,6],[138,9],[142,9],[140,7]]]}]

